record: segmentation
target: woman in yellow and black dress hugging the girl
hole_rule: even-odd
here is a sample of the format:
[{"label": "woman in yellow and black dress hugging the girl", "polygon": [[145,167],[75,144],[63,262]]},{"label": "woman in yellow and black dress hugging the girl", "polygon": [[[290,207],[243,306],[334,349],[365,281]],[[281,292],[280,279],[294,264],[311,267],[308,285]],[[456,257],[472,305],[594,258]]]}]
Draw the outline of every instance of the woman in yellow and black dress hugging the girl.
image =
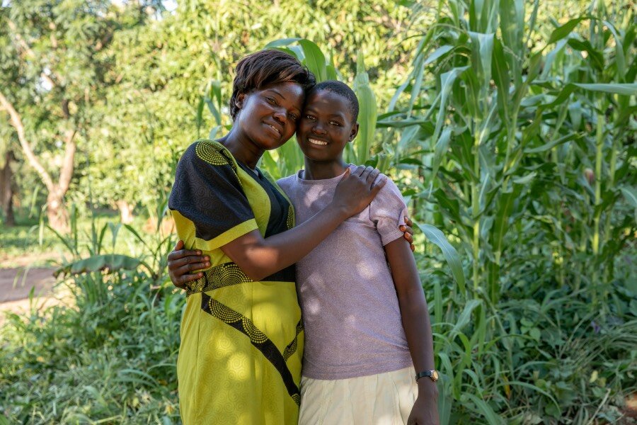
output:
[{"label": "woman in yellow and black dress hugging the girl", "polygon": [[186,288],[178,387],[187,425],[297,423],[303,324],[293,265],[384,185],[371,167],[348,171],[331,203],[294,227],[289,200],[256,164],[292,137],[313,84],[283,52],[243,58],[232,129],[195,142],[178,164],[168,203],[178,235],[210,257]]}]

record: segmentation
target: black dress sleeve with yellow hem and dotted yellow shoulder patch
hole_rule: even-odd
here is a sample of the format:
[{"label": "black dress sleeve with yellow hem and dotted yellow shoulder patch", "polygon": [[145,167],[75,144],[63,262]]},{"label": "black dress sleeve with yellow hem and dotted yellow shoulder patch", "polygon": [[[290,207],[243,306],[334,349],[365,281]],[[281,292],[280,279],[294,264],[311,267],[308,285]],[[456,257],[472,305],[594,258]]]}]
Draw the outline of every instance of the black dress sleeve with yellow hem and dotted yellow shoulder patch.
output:
[{"label": "black dress sleeve with yellow hem and dotted yellow shoulder patch", "polygon": [[168,208],[188,248],[212,251],[258,229],[236,164],[217,142],[199,141],[186,149]]}]

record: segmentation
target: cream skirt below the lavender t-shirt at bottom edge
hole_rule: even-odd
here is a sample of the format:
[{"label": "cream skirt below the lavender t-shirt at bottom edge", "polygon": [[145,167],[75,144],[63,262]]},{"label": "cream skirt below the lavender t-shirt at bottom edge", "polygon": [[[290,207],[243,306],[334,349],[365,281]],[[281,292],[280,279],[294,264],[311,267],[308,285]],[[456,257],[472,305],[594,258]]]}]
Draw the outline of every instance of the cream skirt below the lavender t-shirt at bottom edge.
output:
[{"label": "cream skirt below the lavender t-shirt at bottom edge", "polygon": [[403,425],[418,396],[413,367],[360,378],[301,378],[299,425]]}]

